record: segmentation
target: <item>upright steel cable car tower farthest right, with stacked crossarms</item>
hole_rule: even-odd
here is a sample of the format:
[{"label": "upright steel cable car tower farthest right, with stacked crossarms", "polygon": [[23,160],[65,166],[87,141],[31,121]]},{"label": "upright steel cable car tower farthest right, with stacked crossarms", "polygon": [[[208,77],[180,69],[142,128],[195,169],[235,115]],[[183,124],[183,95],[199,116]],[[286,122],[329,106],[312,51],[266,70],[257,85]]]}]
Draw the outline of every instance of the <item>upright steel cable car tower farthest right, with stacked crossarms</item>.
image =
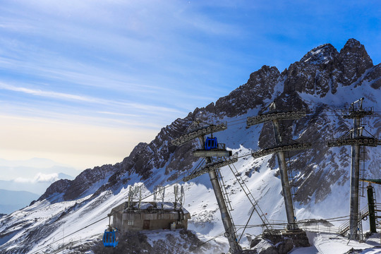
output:
[{"label": "upright steel cable car tower farthest right, with stacked crossarms", "polygon": [[[373,114],[373,107],[363,108],[363,99],[358,99],[356,102],[351,103],[351,107],[342,113],[344,119],[353,119],[353,128],[342,135],[340,138],[334,140],[327,140],[328,147],[339,147],[341,145],[351,145],[352,147],[352,159],[351,159],[351,191],[350,191],[350,207],[349,207],[349,239],[358,239],[357,225],[358,225],[358,191],[360,180],[360,166],[361,159],[365,159],[365,156],[361,158],[361,148],[365,150],[365,146],[377,147],[381,145],[381,140],[378,140],[373,135],[367,137],[363,135],[364,131],[364,119],[365,116]],[[370,134],[370,133],[368,133]],[[371,135],[371,134],[370,134]],[[365,170],[365,169],[364,169]]]}]

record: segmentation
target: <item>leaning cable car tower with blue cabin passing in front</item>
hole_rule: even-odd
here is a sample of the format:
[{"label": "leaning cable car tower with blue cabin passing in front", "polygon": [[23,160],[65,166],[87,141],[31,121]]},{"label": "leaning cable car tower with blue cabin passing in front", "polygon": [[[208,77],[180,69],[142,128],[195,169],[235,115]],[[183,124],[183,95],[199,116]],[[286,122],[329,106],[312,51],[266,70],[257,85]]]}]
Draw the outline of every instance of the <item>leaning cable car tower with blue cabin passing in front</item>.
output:
[{"label": "leaning cable car tower with blue cabin passing in front", "polygon": [[[189,181],[205,173],[209,174],[214,195],[216,195],[219,211],[221,212],[222,224],[224,224],[224,236],[228,238],[230,252],[236,253],[237,251],[241,250],[241,246],[237,241],[238,238],[236,236],[236,229],[233,220],[231,219],[231,214],[226,205],[226,202],[229,203],[229,200],[227,200],[228,197],[225,195],[226,193],[224,193],[224,190],[219,183],[219,168],[237,162],[238,157],[231,157],[231,151],[226,150],[224,144],[217,143],[217,138],[213,138],[212,134],[217,131],[224,131],[226,128],[226,123],[210,125],[205,128],[198,128],[191,133],[182,135],[180,138],[172,140],[172,144],[182,145],[183,143],[193,140],[194,138],[198,138],[200,140],[202,149],[195,150],[193,155],[195,157],[205,157],[207,164],[201,169],[195,169],[193,172],[191,172],[191,174],[188,174],[188,176],[184,177],[183,181]],[[208,134],[211,134],[211,137],[205,138],[205,135]],[[231,157],[231,159],[213,162],[212,157]]]}]

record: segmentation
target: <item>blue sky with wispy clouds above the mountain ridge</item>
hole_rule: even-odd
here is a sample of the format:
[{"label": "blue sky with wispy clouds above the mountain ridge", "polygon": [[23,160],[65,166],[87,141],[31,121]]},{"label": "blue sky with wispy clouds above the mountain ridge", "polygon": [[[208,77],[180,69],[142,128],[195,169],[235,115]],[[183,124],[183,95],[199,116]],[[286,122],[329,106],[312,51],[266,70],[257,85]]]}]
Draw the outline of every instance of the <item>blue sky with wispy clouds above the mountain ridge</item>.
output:
[{"label": "blue sky with wispy clouds above the mountain ridge", "polygon": [[121,162],[261,66],[283,71],[321,44],[355,38],[380,63],[380,13],[380,1],[3,0],[0,180],[13,178],[3,162]]}]

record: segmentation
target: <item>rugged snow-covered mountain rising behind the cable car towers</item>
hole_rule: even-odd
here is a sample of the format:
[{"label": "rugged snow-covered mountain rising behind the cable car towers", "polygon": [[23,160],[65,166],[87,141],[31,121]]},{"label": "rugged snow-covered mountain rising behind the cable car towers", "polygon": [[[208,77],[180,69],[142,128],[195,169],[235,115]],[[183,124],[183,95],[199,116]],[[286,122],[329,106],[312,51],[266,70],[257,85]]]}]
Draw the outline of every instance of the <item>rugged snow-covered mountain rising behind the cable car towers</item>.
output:
[{"label": "rugged snow-covered mountain rising behind the cable car towers", "polygon": [[[271,102],[275,102],[278,109],[307,112],[306,117],[284,121],[282,126],[290,143],[313,143],[310,150],[288,155],[297,190],[294,197],[297,219],[346,216],[349,214],[351,147],[327,147],[325,141],[351,129],[351,121],[341,118],[341,109],[349,107],[351,102],[364,97],[364,106],[375,107],[377,111],[380,87],[381,64],[373,65],[363,45],[353,39],[340,52],[331,44],[316,47],[282,73],[276,67],[262,66],[250,74],[246,84],[226,97],[195,109],[184,119],[176,119],[162,128],[151,143],[138,144],[123,162],[86,169],[73,181],[56,181],[29,207],[1,217],[0,251],[38,253],[72,243],[71,253],[97,253],[95,246],[108,223],[102,218],[123,202],[129,185],[143,183],[144,197],[152,193],[155,186],[175,183],[183,173],[196,167],[199,159],[192,156],[192,151],[200,146],[197,140],[179,147],[171,144],[171,140],[191,131],[195,121],[205,126],[226,122],[227,130],[215,136],[240,157],[234,170],[221,169],[234,208],[231,214],[240,228],[238,234],[252,207],[236,176],[246,183],[267,219],[286,220],[275,155],[258,159],[250,156],[252,150],[274,145],[272,126],[264,123],[246,127],[246,118],[262,113]],[[365,129],[379,137],[379,114],[376,112],[367,123]],[[367,147],[366,158],[367,170],[363,177],[380,178],[380,147]],[[199,176],[182,184],[186,190],[185,207],[192,216],[188,229],[202,239],[223,234],[209,177]],[[169,188],[166,194],[168,200],[173,200],[171,190]],[[376,192],[376,197],[381,197],[379,188]],[[361,208],[365,204],[363,198]],[[338,226],[342,222],[333,223]],[[249,224],[261,224],[260,218],[253,215]],[[261,231],[258,226],[246,229],[246,233],[253,235]],[[223,237],[216,241],[222,250],[229,248]],[[241,243],[250,245],[246,237]],[[207,253],[208,250],[202,251]]]}]

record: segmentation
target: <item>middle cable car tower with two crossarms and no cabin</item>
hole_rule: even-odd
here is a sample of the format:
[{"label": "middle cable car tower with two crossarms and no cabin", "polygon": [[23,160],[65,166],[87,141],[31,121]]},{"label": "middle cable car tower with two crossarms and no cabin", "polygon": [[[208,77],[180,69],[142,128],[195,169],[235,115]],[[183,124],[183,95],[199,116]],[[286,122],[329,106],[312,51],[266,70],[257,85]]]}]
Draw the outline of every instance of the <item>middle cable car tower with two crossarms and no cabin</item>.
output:
[{"label": "middle cable car tower with two crossarms and no cabin", "polygon": [[[275,135],[275,147],[258,150],[252,153],[254,158],[259,158],[272,153],[277,153],[278,164],[280,169],[280,176],[282,182],[284,206],[286,207],[287,215],[287,227],[289,231],[298,231],[298,225],[296,224],[296,217],[294,212],[294,202],[292,200],[291,185],[289,171],[287,169],[286,159],[284,152],[304,150],[312,147],[311,143],[294,143],[287,144],[284,142],[284,137],[279,128],[279,121],[282,120],[296,120],[306,116],[306,111],[282,111],[275,107],[275,103],[272,102],[269,105],[269,111],[265,114],[258,116],[251,116],[247,119],[247,126],[253,126],[259,123],[265,123],[266,121],[272,121],[272,127]],[[292,179],[291,179],[292,180]]]}]

